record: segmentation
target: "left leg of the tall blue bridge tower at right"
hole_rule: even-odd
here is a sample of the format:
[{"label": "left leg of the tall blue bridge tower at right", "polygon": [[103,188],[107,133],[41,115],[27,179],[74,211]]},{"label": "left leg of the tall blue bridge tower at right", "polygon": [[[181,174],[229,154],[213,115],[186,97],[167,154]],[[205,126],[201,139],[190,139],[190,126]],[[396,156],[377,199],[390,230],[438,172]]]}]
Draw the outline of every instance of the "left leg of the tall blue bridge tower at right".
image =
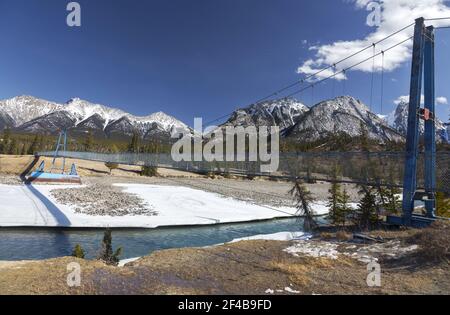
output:
[{"label": "left leg of the tall blue bridge tower at right", "polygon": [[417,156],[419,146],[419,109],[422,88],[424,59],[425,20],[416,20],[409,93],[408,132],[406,136],[406,156],[403,179],[403,224],[411,225],[414,197],[417,189]]}]

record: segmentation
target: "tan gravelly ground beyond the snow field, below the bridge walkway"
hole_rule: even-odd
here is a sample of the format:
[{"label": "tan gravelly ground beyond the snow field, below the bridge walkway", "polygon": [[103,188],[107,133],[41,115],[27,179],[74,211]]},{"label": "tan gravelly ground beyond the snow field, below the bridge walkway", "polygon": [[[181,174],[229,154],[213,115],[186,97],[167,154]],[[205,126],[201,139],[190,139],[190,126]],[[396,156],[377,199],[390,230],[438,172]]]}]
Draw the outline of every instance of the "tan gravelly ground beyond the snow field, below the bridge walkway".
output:
[{"label": "tan gravelly ground beyond the snow field, below the bridge walkway", "polygon": [[[18,177],[32,162],[32,156],[5,156],[0,155],[0,183],[20,184]],[[50,158],[44,158],[47,168],[51,164]],[[292,183],[286,181],[273,181],[263,178],[248,180],[246,178],[232,177],[215,179],[191,172],[158,168],[158,177],[142,177],[139,174],[140,167],[119,165],[118,169],[109,174],[108,168],[102,162],[67,159],[66,167],[76,163],[83,184],[108,186],[114,183],[141,183],[155,185],[185,186],[218,193],[226,197],[239,200],[252,201],[259,205],[275,207],[291,207],[292,197],[289,191]],[[39,161],[40,163],[40,161]],[[37,166],[39,165],[37,163]],[[36,166],[36,167],[37,167]],[[353,202],[359,200],[358,189],[354,185],[343,184]],[[318,201],[324,201],[328,197],[329,183],[317,182],[307,184],[308,189]]]}]

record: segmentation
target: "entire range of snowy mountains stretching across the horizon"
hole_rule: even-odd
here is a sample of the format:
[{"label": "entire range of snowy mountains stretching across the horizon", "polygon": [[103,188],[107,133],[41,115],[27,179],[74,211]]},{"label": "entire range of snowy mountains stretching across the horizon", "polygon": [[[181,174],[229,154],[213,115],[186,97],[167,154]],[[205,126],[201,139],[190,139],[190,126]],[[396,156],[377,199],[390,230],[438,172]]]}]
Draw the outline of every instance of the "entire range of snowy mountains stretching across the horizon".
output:
[{"label": "entire range of snowy mountains stretching across the horizon", "polygon": [[[311,108],[295,99],[283,98],[238,109],[221,127],[277,125],[284,138],[308,142],[332,133],[357,136],[364,125],[369,138],[384,143],[404,141],[407,119],[405,102],[389,115],[381,116],[351,96],[326,100]],[[79,98],[60,104],[33,96],[0,101],[0,129],[5,126],[23,133],[55,134],[68,129],[71,134],[84,135],[91,131],[103,138],[129,137],[137,132],[143,139],[169,139],[174,128],[192,131],[185,123],[163,112],[135,116]],[[448,124],[436,119],[436,129],[438,141],[448,141]]]}]

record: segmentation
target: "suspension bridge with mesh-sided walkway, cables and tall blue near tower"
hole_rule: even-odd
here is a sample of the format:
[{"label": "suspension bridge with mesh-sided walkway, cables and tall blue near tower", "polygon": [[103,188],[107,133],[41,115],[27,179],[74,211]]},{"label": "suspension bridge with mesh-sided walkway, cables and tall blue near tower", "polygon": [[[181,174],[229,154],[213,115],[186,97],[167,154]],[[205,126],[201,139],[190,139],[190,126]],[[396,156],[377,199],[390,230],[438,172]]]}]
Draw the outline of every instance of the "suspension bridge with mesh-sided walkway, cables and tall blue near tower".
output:
[{"label": "suspension bridge with mesh-sided walkway, cables and tall blue near tower", "polygon": [[[245,176],[268,176],[285,179],[314,179],[324,181],[340,181],[372,186],[399,187],[403,191],[403,215],[391,217],[389,221],[403,225],[424,225],[435,219],[436,192],[450,193],[450,152],[436,152],[435,128],[435,21],[450,22],[450,17],[424,19],[399,29],[367,47],[295,81],[277,91],[257,100],[254,104],[283,97],[293,97],[311,92],[314,101],[314,89],[320,84],[336,79],[339,75],[348,76],[349,72],[366,63],[372,62],[370,107],[373,105],[374,76],[377,72],[375,59],[381,59],[379,69],[381,75],[380,104],[384,102],[384,64],[390,51],[412,41],[412,62],[410,77],[409,116],[406,146],[403,152],[325,152],[325,153],[285,153],[280,156],[277,172],[261,173],[260,162],[175,162],[170,154],[118,153],[104,154],[93,152],[39,152],[36,156],[53,158],[73,158],[100,162],[114,162],[128,165],[145,165],[165,167],[195,172],[217,172]],[[430,24],[430,25],[427,25]],[[411,30],[413,33],[411,35]],[[394,39],[397,38],[397,40]],[[386,44],[393,42],[386,46]],[[369,55],[367,57],[367,55]],[[361,60],[350,63],[362,56]],[[324,76],[327,73],[330,73]],[[333,81],[334,82],[334,81]],[[422,86],[423,82],[423,86]],[[333,84],[333,90],[335,86]],[[344,88],[345,89],[345,88]],[[421,107],[422,89],[425,103]],[[213,124],[229,117],[230,114],[207,122]],[[424,121],[424,148],[419,149],[420,120]],[[339,165],[342,177],[333,178],[332,169]],[[426,208],[425,216],[413,214],[416,201],[420,200]]]}]

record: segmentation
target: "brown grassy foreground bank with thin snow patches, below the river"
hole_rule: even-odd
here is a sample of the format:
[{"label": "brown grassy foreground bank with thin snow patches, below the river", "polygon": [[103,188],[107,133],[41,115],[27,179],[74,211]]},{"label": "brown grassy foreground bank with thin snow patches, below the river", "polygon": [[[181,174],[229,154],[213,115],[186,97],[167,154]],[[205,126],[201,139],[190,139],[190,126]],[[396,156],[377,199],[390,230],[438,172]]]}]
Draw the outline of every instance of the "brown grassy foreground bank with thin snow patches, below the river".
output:
[{"label": "brown grassy foreground bank with thin snow patches, below the river", "polygon": [[[70,257],[0,263],[0,294],[450,294],[448,261],[424,261],[420,247],[411,247],[415,233],[378,234],[384,244],[314,239],[164,250],[122,268]],[[311,248],[325,255],[314,257]],[[380,287],[367,285],[360,259],[367,253],[381,265]],[[81,286],[69,288],[67,264],[74,261]]]}]

